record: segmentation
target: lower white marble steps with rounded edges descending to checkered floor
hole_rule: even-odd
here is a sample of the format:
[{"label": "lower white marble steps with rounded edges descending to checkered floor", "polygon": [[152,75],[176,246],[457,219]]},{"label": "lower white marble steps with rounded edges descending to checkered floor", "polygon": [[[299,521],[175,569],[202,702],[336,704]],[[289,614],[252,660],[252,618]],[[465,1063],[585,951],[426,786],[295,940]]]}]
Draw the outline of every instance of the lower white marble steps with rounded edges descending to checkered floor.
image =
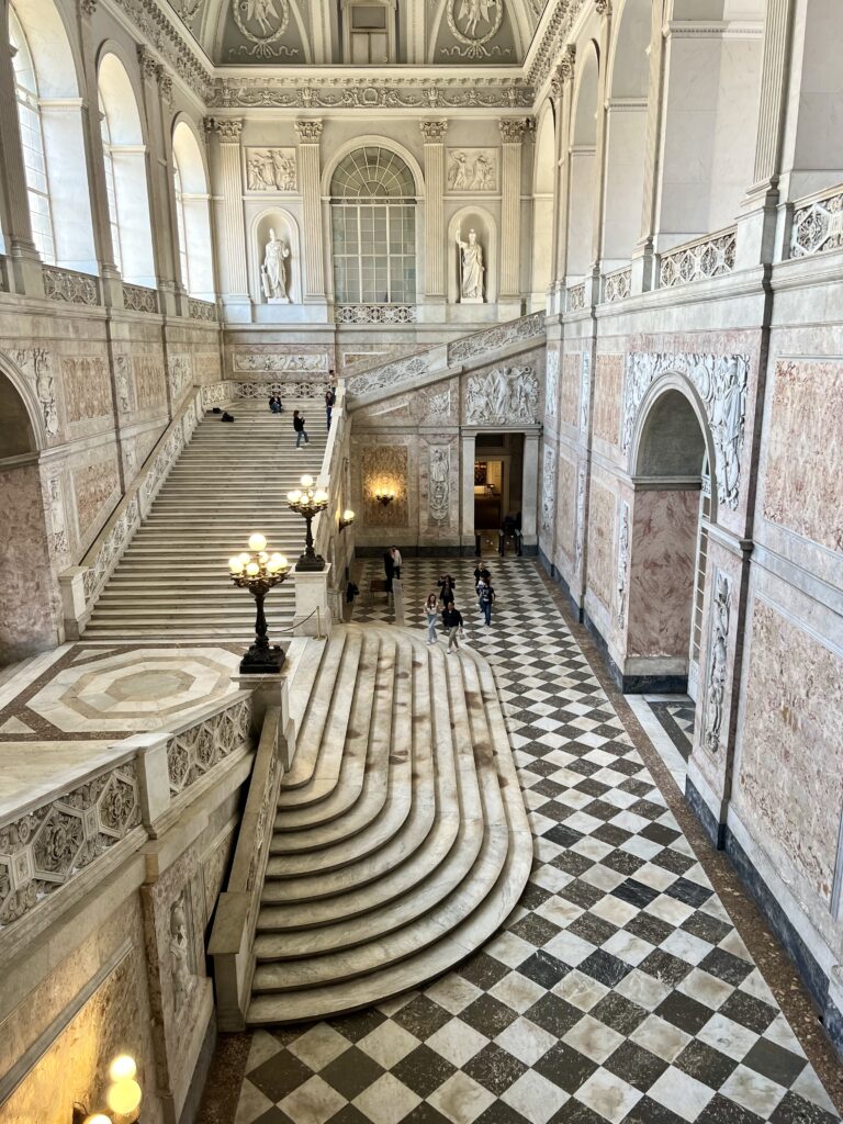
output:
[{"label": "lower white marble steps with rounded edges descending to checkered floor", "polygon": [[298,740],[254,944],[252,1025],[321,1018],[463,960],[533,842],[491,669],[422,633],[336,628],[291,687]]}]

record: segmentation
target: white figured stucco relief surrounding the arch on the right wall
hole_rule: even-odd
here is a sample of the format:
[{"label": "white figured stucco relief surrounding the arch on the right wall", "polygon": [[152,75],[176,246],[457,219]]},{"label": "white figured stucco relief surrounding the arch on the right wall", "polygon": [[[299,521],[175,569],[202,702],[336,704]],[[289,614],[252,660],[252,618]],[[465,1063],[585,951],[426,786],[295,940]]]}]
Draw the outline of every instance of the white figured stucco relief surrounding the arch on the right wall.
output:
[{"label": "white figured stucco relief surrounding the arch on the right wall", "polygon": [[711,429],[717,498],[735,509],[741,491],[749,371],[747,355],[631,352],[624,383],[624,450],[632,444],[638,407],[650,386],[663,374],[685,375],[697,388]]}]

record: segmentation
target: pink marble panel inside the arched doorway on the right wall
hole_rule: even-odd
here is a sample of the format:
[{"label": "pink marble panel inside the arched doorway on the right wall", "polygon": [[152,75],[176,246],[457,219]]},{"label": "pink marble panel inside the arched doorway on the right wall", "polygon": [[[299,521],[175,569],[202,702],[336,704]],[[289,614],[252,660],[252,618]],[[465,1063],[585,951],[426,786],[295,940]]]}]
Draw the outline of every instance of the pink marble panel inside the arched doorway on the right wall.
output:
[{"label": "pink marble panel inside the arched doorway on the right wall", "polygon": [[698,491],[635,493],[628,656],[687,658],[698,517]]}]

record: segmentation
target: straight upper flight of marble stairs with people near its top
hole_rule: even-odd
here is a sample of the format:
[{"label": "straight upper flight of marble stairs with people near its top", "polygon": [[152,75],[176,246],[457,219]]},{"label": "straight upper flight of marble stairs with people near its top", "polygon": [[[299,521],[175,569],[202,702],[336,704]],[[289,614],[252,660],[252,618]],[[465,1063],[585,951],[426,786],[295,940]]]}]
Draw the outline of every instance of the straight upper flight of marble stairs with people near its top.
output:
[{"label": "straight upper flight of marble stairs with people near its top", "polygon": [[[293,409],[303,411],[310,444],[294,448]],[[305,524],[287,507],[302,473],[317,477],[325,453],[320,401],[285,400],[270,414],[264,399],[230,407],[233,425],[207,414],[158,492],[100,596],[85,640],[246,640],[254,601],[228,578],[228,559],[261,531],[290,561],[301,553]],[[293,617],[293,583],[266,599],[272,629]]]}]

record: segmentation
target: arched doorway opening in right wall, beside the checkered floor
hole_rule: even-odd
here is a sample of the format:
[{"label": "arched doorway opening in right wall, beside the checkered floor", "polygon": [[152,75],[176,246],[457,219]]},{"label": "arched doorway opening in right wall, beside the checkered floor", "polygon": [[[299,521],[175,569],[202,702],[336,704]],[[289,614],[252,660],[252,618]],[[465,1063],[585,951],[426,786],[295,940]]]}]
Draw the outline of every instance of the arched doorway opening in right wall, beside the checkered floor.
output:
[{"label": "arched doorway opening in right wall, beside the checkered floor", "polygon": [[696,698],[711,518],[707,434],[673,384],[650,398],[638,434],[625,680]]}]

